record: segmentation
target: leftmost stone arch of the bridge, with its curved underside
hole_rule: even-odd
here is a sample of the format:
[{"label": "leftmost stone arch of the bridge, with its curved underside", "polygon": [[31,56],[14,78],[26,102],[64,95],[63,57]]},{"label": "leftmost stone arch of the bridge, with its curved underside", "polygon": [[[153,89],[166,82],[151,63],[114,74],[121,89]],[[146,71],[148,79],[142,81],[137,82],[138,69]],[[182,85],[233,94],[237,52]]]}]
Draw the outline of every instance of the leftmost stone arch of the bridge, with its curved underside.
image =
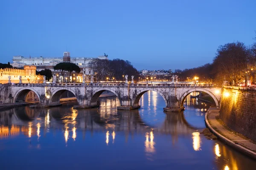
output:
[{"label": "leftmost stone arch of the bridge, with its curved underside", "polygon": [[13,96],[14,102],[26,102],[26,96],[29,94],[29,92],[32,91],[34,92],[37,97],[38,97],[38,101],[40,102],[40,95],[38,94],[37,91],[35,91],[35,89],[33,88],[21,88],[19,89]]}]

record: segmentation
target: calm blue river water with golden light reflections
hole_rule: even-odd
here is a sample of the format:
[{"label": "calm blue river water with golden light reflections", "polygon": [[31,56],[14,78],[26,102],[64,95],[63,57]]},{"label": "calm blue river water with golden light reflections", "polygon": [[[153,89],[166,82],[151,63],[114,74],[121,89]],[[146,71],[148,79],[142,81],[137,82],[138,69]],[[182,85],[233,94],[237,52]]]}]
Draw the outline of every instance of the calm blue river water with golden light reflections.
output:
[{"label": "calm blue river water with golden light reflections", "polygon": [[210,104],[190,99],[164,113],[148,91],[141,108],[118,111],[116,97],[99,108],[13,108],[0,111],[0,169],[255,170],[256,161],[200,134]]}]

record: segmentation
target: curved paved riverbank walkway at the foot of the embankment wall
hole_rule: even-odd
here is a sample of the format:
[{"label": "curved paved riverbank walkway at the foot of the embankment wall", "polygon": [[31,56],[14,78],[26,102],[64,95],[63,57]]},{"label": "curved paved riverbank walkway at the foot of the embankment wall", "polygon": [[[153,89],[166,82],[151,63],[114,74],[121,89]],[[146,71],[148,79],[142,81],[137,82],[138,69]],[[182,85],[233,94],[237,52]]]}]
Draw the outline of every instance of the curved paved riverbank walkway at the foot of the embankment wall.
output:
[{"label": "curved paved riverbank walkway at the foot of the embankment wall", "polygon": [[219,109],[215,107],[209,108],[205,114],[205,121],[207,127],[231,147],[240,150],[247,156],[256,159],[256,141],[243,136],[240,133],[230,129],[227,125],[219,119]]}]

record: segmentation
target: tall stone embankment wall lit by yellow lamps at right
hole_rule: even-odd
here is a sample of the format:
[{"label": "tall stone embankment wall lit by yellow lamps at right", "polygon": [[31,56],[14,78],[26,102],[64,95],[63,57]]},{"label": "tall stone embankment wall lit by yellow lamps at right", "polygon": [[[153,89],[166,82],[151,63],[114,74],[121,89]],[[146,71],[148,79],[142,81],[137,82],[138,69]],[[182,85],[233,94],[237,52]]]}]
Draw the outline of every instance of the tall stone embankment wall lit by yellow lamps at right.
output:
[{"label": "tall stone embankment wall lit by yellow lamps at right", "polygon": [[256,140],[256,88],[224,87],[220,118],[231,129]]}]

